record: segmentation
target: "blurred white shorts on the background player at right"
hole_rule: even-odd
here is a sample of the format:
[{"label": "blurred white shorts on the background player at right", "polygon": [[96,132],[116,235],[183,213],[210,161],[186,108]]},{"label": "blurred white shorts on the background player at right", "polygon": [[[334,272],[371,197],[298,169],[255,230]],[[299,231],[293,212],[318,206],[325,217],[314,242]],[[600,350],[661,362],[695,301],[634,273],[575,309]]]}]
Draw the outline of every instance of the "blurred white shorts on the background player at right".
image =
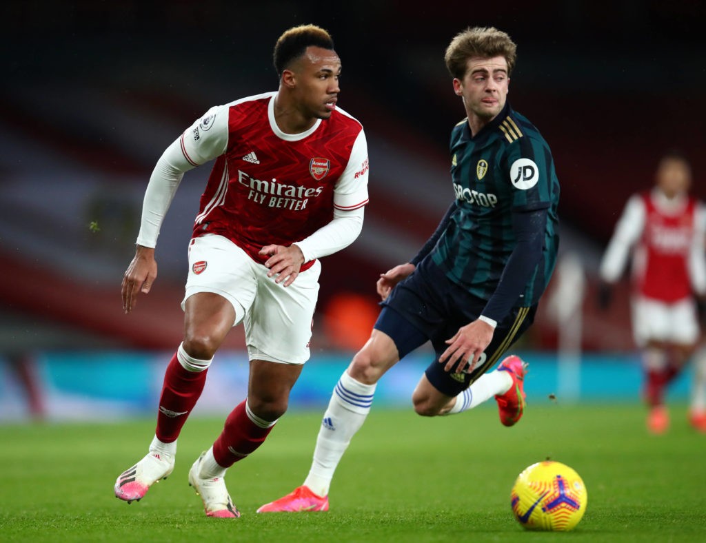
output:
[{"label": "blurred white shorts on the background player at right", "polygon": [[633,336],[638,347],[644,347],[650,340],[678,345],[691,345],[698,340],[696,304],[691,298],[664,303],[636,296],[632,310]]}]

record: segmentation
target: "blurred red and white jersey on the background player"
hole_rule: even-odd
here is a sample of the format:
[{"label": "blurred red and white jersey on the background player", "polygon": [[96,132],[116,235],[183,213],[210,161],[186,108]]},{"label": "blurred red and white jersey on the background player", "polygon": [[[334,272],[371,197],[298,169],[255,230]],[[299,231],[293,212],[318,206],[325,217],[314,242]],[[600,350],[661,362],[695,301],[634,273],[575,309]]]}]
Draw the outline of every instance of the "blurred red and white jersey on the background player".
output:
[{"label": "blurred red and white jersey on the background player", "polygon": [[602,279],[617,281],[633,250],[635,294],[674,303],[705,293],[705,222],[702,205],[688,195],[633,195],[604,255]]}]

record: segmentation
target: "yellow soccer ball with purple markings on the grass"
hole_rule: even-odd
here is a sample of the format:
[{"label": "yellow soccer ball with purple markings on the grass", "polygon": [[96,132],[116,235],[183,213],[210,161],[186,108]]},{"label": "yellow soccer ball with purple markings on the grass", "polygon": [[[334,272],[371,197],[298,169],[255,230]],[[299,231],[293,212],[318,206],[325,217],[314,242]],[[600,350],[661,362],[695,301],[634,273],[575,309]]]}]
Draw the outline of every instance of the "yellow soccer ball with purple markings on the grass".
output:
[{"label": "yellow soccer ball with purple markings on the grass", "polygon": [[510,493],[515,518],[527,530],[573,530],[587,503],[586,487],[578,473],[549,460],[520,473]]}]

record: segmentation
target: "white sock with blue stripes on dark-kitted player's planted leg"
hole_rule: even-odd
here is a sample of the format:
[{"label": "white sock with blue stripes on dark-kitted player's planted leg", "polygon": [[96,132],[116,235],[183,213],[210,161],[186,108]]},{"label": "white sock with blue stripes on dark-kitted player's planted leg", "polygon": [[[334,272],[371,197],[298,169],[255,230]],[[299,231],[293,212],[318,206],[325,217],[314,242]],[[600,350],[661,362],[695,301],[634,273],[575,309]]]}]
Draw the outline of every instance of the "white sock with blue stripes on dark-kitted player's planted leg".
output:
[{"label": "white sock with blue stripes on dark-kitted player's planted leg", "polygon": [[333,389],[316,438],[311,470],[304,484],[318,496],[328,495],[338,463],[354,434],[365,422],[376,384],[363,384],[343,372]]}]

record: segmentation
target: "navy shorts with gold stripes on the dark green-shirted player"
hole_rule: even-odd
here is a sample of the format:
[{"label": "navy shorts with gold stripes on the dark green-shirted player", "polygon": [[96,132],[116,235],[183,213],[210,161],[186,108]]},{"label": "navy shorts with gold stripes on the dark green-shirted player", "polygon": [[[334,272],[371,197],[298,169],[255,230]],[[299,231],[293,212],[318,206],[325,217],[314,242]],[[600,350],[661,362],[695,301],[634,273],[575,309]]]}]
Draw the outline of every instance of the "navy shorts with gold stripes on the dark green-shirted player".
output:
[{"label": "navy shorts with gold stripes on the dark green-shirted player", "polygon": [[436,358],[426,368],[426,378],[441,393],[456,396],[500,360],[517,338],[530,327],[537,312],[532,307],[514,307],[498,322],[490,345],[470,373],[446,372],[438,358],[448,348],[445,341],[460,327],[473,322],[486,306],[481,300],[450,281],[443,271],[425,258],[414,273],[401,281],[381,303],[383,310],[375,328],[395,342],[400,359],[431,341]]}]

